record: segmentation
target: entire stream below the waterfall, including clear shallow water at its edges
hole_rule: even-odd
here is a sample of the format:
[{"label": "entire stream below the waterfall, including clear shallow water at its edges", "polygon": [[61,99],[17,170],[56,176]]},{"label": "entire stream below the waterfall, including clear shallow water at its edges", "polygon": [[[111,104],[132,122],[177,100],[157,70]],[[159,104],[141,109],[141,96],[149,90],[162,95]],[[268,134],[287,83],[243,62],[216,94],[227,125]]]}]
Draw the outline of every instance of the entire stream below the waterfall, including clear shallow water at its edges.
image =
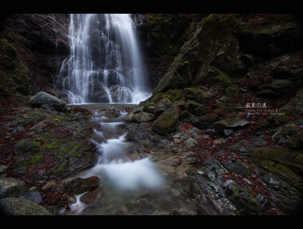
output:
[{"label": "entire stream below the waterfall, including clear shallow water at its edges", "polygon": [[[102,185],[100,200],[86,205],[77,196],[77,202],[68,215],[196,215],[222,214],[222,209],[205,198],[205,206],[188,196],[191,183],[195,182],[185,172],[192,165],[174,166],[169,163],[173,155],[165,152],[138,154],[139,144],[127,141],[127,132],[120,128],[127,115],[125,109],[136,104],[88,104],[93,117],[90,122],[95,127],[95,136],[89,139],[99,153],[96,165],[84,172],[74,174],[65,181],[76,177],[98,176]],[[105,111],[96,108],[115,107],[120,111],[117,118],[107,118]],[[118,109],[119,107],[119,109]],[[122,107],[122,108],[121,108]],[[96,110],[94,110],[96,109]],[[200,201],[201,202],[201,201]]]}]

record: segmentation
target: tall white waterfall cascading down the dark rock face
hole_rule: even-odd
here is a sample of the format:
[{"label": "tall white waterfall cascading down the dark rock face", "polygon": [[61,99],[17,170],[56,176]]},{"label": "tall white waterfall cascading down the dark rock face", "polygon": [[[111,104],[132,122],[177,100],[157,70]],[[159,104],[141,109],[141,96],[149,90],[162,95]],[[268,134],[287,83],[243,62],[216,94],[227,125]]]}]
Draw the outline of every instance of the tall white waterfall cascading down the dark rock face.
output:
[{"label": "tall white waterfall cascading down the dark rock face", "polygon": [[67,103],[139,103],[151,96],[127,14],[71,14],[71,55],[56,87]]}]

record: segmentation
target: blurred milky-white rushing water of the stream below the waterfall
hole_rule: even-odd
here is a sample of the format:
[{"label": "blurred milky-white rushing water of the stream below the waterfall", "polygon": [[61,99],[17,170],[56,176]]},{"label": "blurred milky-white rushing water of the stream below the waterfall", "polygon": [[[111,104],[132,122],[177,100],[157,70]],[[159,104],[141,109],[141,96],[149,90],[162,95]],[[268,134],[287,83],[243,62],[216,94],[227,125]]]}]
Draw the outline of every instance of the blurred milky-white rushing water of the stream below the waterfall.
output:
[{"label": "blurred milky-white rushing water of the stream below the waterfall", "polygon": [[[105,112],[96,111],[91,119],[91,122],[95,126],[99,125],[101,129],[101,131],[95,129],[95,136],[90,139],[98,149],[98,162],[94,167],[73,175],[68,180],[75,177],[98,176],[102,184],[103,198],[92,210],[86,209],[90,205],[82,203],[80,198],[83,194],[79,195],[77,202],[70,206],[69,214],[115,214],[116,209],[122,208],[121,206],[124,206],[131,197],[134,198],[134,195],[156,191],[165,185],[163,171],[150,157],[133,161],[127,156],[136,149],[134,142],[125,140],[127,133],[115,137],[116,130],[124,123],[123,118],[126,114],[122,112],[118,118],[111,119],[104,116]],[[103,206],[104,202],[107,206]]]}]

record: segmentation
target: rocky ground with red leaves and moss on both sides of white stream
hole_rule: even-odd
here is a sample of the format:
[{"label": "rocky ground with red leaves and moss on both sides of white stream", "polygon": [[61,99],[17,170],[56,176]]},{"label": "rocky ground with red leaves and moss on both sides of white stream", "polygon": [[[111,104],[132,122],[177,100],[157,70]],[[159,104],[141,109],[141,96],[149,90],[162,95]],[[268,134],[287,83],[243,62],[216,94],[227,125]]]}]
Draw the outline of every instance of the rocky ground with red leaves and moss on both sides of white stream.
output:
[{"label": "rocky ground with red leaves and moss on both sides of white stream", "polygon": [[[126,109],[124,120],[130,114],[146,113],[142,108]],[[98,158],[96,146],[88,140],[94,136],[93,129],[100,128],[89,121],[95,111],[81,107],[74,111],[26,105],[1,110],[0,202],[4,214],[62,214],[64,208],[64,214],[75,214],[68,212],[68,206],[76,202],[76,195],[87,191],[81,197],[89,205],[87,213],[77,214],[106,209],[97,176],[67,179],[95,165]],[[115,119],[125,108],[99,112]],[[227,118],[243,123],[237,115]],[[218,127],[215,122],[207,128],[193,126],[188,119],[176,121],[175,131],[167,134],[154,131],[152,121],[128,120],[119,125],[112,138],[127,132],[126,141],[136,143],[127,156],[132,161],[150,156],[165,168],[166,182],[161,191],[136,193],[126,204],[102,214],[300,214],[302,151],[300,139],[294,140],[294,136],[302,133],[302,118],[264,131],[252,131],[248,121],[234,127]],[[226,135],[223,129],[228,128],[233,131]],[[287,143],[281,144],[283,138]]]}]

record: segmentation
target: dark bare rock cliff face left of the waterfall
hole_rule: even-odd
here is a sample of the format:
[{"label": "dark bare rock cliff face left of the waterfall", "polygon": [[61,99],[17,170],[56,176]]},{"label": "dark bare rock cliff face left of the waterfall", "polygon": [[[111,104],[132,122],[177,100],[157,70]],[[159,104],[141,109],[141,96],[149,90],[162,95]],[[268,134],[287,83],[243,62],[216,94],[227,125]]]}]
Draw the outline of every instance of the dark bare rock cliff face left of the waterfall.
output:
[{"label": "dark bare rock cliff face left of the waterfall", "polygon": [[16,49],[32,75],[35,90],[55,95],[54,79],[69,54],[69,15],[9,14],[0,23],[1,38]]}]

